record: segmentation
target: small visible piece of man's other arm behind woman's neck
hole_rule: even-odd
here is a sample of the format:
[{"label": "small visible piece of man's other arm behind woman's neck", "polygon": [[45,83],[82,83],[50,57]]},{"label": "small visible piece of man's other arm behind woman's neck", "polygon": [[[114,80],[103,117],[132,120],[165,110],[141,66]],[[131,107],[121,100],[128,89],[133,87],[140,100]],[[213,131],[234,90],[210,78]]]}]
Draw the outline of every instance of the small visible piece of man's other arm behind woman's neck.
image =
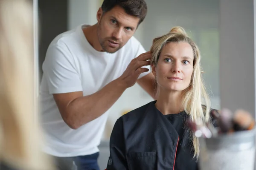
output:
[{"label": "small visible piece of man's other arm behind woman's neck", "polygon": [[152,73],[149,73],[137,80],[137,83],[142,87],[153,99],[156,100],[157,83]]}]

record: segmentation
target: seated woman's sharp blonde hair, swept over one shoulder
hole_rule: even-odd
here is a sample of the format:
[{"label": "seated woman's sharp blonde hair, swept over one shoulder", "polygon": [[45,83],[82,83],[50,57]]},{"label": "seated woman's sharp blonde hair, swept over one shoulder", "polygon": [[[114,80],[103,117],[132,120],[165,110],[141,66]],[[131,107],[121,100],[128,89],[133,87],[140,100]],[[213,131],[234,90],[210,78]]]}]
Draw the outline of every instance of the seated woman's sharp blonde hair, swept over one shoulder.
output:
[{"label": "seated woman's sharp blonde hair, swept over one shoulder", "polygon": [[[173,27],[168,34],[153,40],[153,45],[151,46],[151,65],[157,65],[163,47],[169,42],[187,42],[191,45],[194,54],[193,72],[189,86],[183,91],[183,108],[189,114],[192,121],[209,122],[210,100],[201,75],[200,51],[182,27]],[[204,106],[202,106],[203,102]],[[194,147],[194,157],[198,158],[199,140],[195,135],[192,135],[191,138]]]}]

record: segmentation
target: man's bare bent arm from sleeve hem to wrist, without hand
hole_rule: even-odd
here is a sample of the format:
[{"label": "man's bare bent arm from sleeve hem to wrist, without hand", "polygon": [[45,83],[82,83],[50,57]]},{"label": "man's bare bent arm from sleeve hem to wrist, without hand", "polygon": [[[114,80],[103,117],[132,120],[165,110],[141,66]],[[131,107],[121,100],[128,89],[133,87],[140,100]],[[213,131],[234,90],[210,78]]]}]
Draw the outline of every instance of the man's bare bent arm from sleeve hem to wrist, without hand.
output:
[{"label": "man's bare bent arm from sleeve hem to wrist, without hand", "polygon": [[64,122],[77,129],[108,111],[125,89],[125,84],[116,79],[89,96],[83,96],[83,92],[78,91],[53,94],[53,97]]}]

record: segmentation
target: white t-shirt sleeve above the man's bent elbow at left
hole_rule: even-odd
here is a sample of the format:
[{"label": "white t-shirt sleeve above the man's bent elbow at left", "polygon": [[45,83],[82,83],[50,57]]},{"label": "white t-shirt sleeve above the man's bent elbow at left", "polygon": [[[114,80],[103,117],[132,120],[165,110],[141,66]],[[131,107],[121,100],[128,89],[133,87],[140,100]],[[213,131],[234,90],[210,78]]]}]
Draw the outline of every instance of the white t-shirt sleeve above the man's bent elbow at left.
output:
[{"label": "white t-shirt sleeve above the man's bent elbow at left", "polygon": [[65,45],[50,46],[42,68],[49,94],[82,91],[80,74]]}]

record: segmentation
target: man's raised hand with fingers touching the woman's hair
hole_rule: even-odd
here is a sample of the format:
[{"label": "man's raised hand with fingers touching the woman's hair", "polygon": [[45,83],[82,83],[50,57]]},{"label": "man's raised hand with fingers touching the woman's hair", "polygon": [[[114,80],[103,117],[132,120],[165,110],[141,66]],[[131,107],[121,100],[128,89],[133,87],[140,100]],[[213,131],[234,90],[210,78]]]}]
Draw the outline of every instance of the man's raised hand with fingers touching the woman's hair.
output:
[{"label": "man's raised hand with fingers touching the woman's hair", "polygon": [[140,74],[148,71],[148,68],[142,67],[150,65],[150,61],[147,61],[149,59],[151,59],[150,51],[140,54],[138,57],[131,60],[125,72],[118,78],[123,85],[125,85],[125,88],[133,86],[137,82]]}]

